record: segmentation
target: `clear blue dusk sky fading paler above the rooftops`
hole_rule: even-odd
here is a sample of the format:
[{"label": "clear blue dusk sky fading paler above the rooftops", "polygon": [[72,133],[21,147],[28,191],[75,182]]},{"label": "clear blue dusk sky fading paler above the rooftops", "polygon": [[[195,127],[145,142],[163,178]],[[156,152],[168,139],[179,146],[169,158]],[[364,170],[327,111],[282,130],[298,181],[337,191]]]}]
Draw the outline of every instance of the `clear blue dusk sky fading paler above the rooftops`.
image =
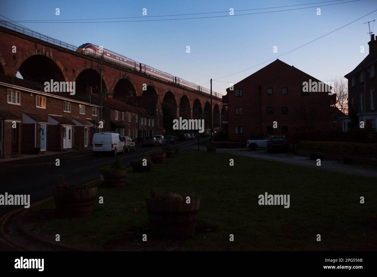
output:
[{"label": "clear blue dusk sky fading paler above the rooftops", "polygon": [[[377,9],[375,0],[317,3],[325,1],[20,0],[1,1],[0,15],[14,21],[114,17],[140,17],[115,19],[118,21],[160,20],[229,15],[229,10],[233,8],[236,16],[189,20],[110,23],[20,22],[27,28],[75,46],[83,43],[101,45],[105,49],[207,88],[210,88],[210,78],[217,79],[253,67],[244,72],[214,80],[212,89],[225,95],[225,89],[230,86],[230,83],[235,84],[241,81],[276,60],[278,55],[319,38]],[[301,5],[309,3],[317,4]],[[341,4],[322,6],[335,3]],[[301,6],[261,9],[287,5]],[[313,8],[239,15],[304,7]],[[60,15],[55,14],[56,8],[60,9]],[[144,8],[147,15],[143,15]],[[317,8],[320,8],[320,15],[317,15]],[[239,11],[245,9],[256,10]],[[152,17],[208,12],[222,13]],[[343,78],[368,55],[369,29],[368,24],[363,23],[375,19],[377,19],[377,11],[307,46],[279,57],[279,60],[322,81],[336,77]],[[374,23],[371,23],[371,30],[377,32],[377,23],[375,30],[372,29]],[[186,52],[187,46],[190,46],[190,53]],[[277,46],[276,53],[273,52],[274,46]],[[365,47],[364,53],[360,53],[360,46]],[[256,66],[270,59],[273,60]]]}]

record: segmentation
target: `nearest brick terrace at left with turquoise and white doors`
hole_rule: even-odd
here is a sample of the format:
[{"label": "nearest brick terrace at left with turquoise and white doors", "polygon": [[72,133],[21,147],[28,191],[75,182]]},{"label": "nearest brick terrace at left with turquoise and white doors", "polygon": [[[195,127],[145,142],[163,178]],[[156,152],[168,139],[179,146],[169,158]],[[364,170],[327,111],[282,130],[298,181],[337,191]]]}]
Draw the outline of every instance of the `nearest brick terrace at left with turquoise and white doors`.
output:
[{"label": "nearest brick terrace at left with turquoise and white doors", "polygon": [[[0,73],[1,158],[90,147],[99,106],[69,92]],[[92,112],[93,111],[93,112]],[[12,128],[15,127],[15,128]]]}]

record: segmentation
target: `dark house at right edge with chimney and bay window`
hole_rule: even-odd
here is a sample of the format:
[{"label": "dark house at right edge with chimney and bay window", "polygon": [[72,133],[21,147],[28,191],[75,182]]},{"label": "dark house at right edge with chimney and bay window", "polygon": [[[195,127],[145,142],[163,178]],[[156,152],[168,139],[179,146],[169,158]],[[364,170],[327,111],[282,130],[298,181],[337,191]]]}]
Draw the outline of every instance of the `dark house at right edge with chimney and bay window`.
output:
[{"label": "dark house at right edge with chimney and bay window", "polygon": [[368,131],[376,132],[377,97],[375,66],[377,64],[377,40],[371,35],[369,54],[354,70],[344,77],[348,79],[348,116],[343,116],[343,131],[348,131],[361,121]]}]

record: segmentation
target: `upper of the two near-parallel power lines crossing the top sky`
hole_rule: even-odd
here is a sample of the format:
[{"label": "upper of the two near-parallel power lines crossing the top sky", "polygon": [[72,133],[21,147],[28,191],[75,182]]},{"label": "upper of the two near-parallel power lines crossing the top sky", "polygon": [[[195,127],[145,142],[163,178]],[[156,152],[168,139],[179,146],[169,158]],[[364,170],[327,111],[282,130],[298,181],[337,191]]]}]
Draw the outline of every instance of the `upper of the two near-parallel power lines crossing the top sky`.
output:
[{"label": "upper of the two near-parallel power lines crossing the top sky", "polygon": [[[307,3],[307,4],[299,4],[299,5],[288,5],[288,6],[276,6],[270,8],[256,8],[256,9],[243,9],[243,10],[236,10],[234,12],[243,12],[243,11],[255,11],[255,10],[262,10],[262,9],[276,9],[276,8],[287,8],[287,7],[294,7],[294,6],[305,6],[305,5],[313,5],[313,4],[321,4],[321,3],[330,3],[330,2],[339,2],[344,0],[333,0],[333,1],[324,1],[324,2],[316,2],[316,3]],[[172,15],[152,15],[150,17],[170,17],[170,16],[185,16],[185,15],[199,15],[199,14],[219,14],[229,11],[223,12],[199,12],[195,14],[172,14]],[[128,19],[128,18],[146,18],[146,16],[135,16],[135,17],[109,17],[109,18],[86,18],[86,19],[52,19],[52,20],[17,20],[17,22],[31,22],[31,21],[76,21],[76,20],[107,20],[107,19]]]}]

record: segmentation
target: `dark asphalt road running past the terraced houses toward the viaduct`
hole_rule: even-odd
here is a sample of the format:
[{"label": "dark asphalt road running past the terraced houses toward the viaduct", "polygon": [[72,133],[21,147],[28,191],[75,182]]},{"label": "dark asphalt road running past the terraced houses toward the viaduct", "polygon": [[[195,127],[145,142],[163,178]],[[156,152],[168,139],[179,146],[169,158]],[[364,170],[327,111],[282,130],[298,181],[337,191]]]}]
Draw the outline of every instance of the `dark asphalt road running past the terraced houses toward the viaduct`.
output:
[{"label": "dark asphalt road running past the terraced houses toward the viaduct", "polygon": [[[200,141],[208,138],[200,138]],[[185,148],[198,143],[198,139],[178,141],[175,145]],[[136,147],[136,152],[120,154],[125,167],[130,161],[142,158],[151,150],[150,147]],[[60,159],[60,166],[55,165]],[[115,156],[93,156],[90,151],[78,151],[51,156],[40,156],[0,164],[0,194],[30,194],[30,204],[53,195],[53,188],[58,184],[58,176],[64,175],[67,185],[81,185],[100,178],[98,168],[111,165]],[[0,216],[21,206],[0,205]]]}]

